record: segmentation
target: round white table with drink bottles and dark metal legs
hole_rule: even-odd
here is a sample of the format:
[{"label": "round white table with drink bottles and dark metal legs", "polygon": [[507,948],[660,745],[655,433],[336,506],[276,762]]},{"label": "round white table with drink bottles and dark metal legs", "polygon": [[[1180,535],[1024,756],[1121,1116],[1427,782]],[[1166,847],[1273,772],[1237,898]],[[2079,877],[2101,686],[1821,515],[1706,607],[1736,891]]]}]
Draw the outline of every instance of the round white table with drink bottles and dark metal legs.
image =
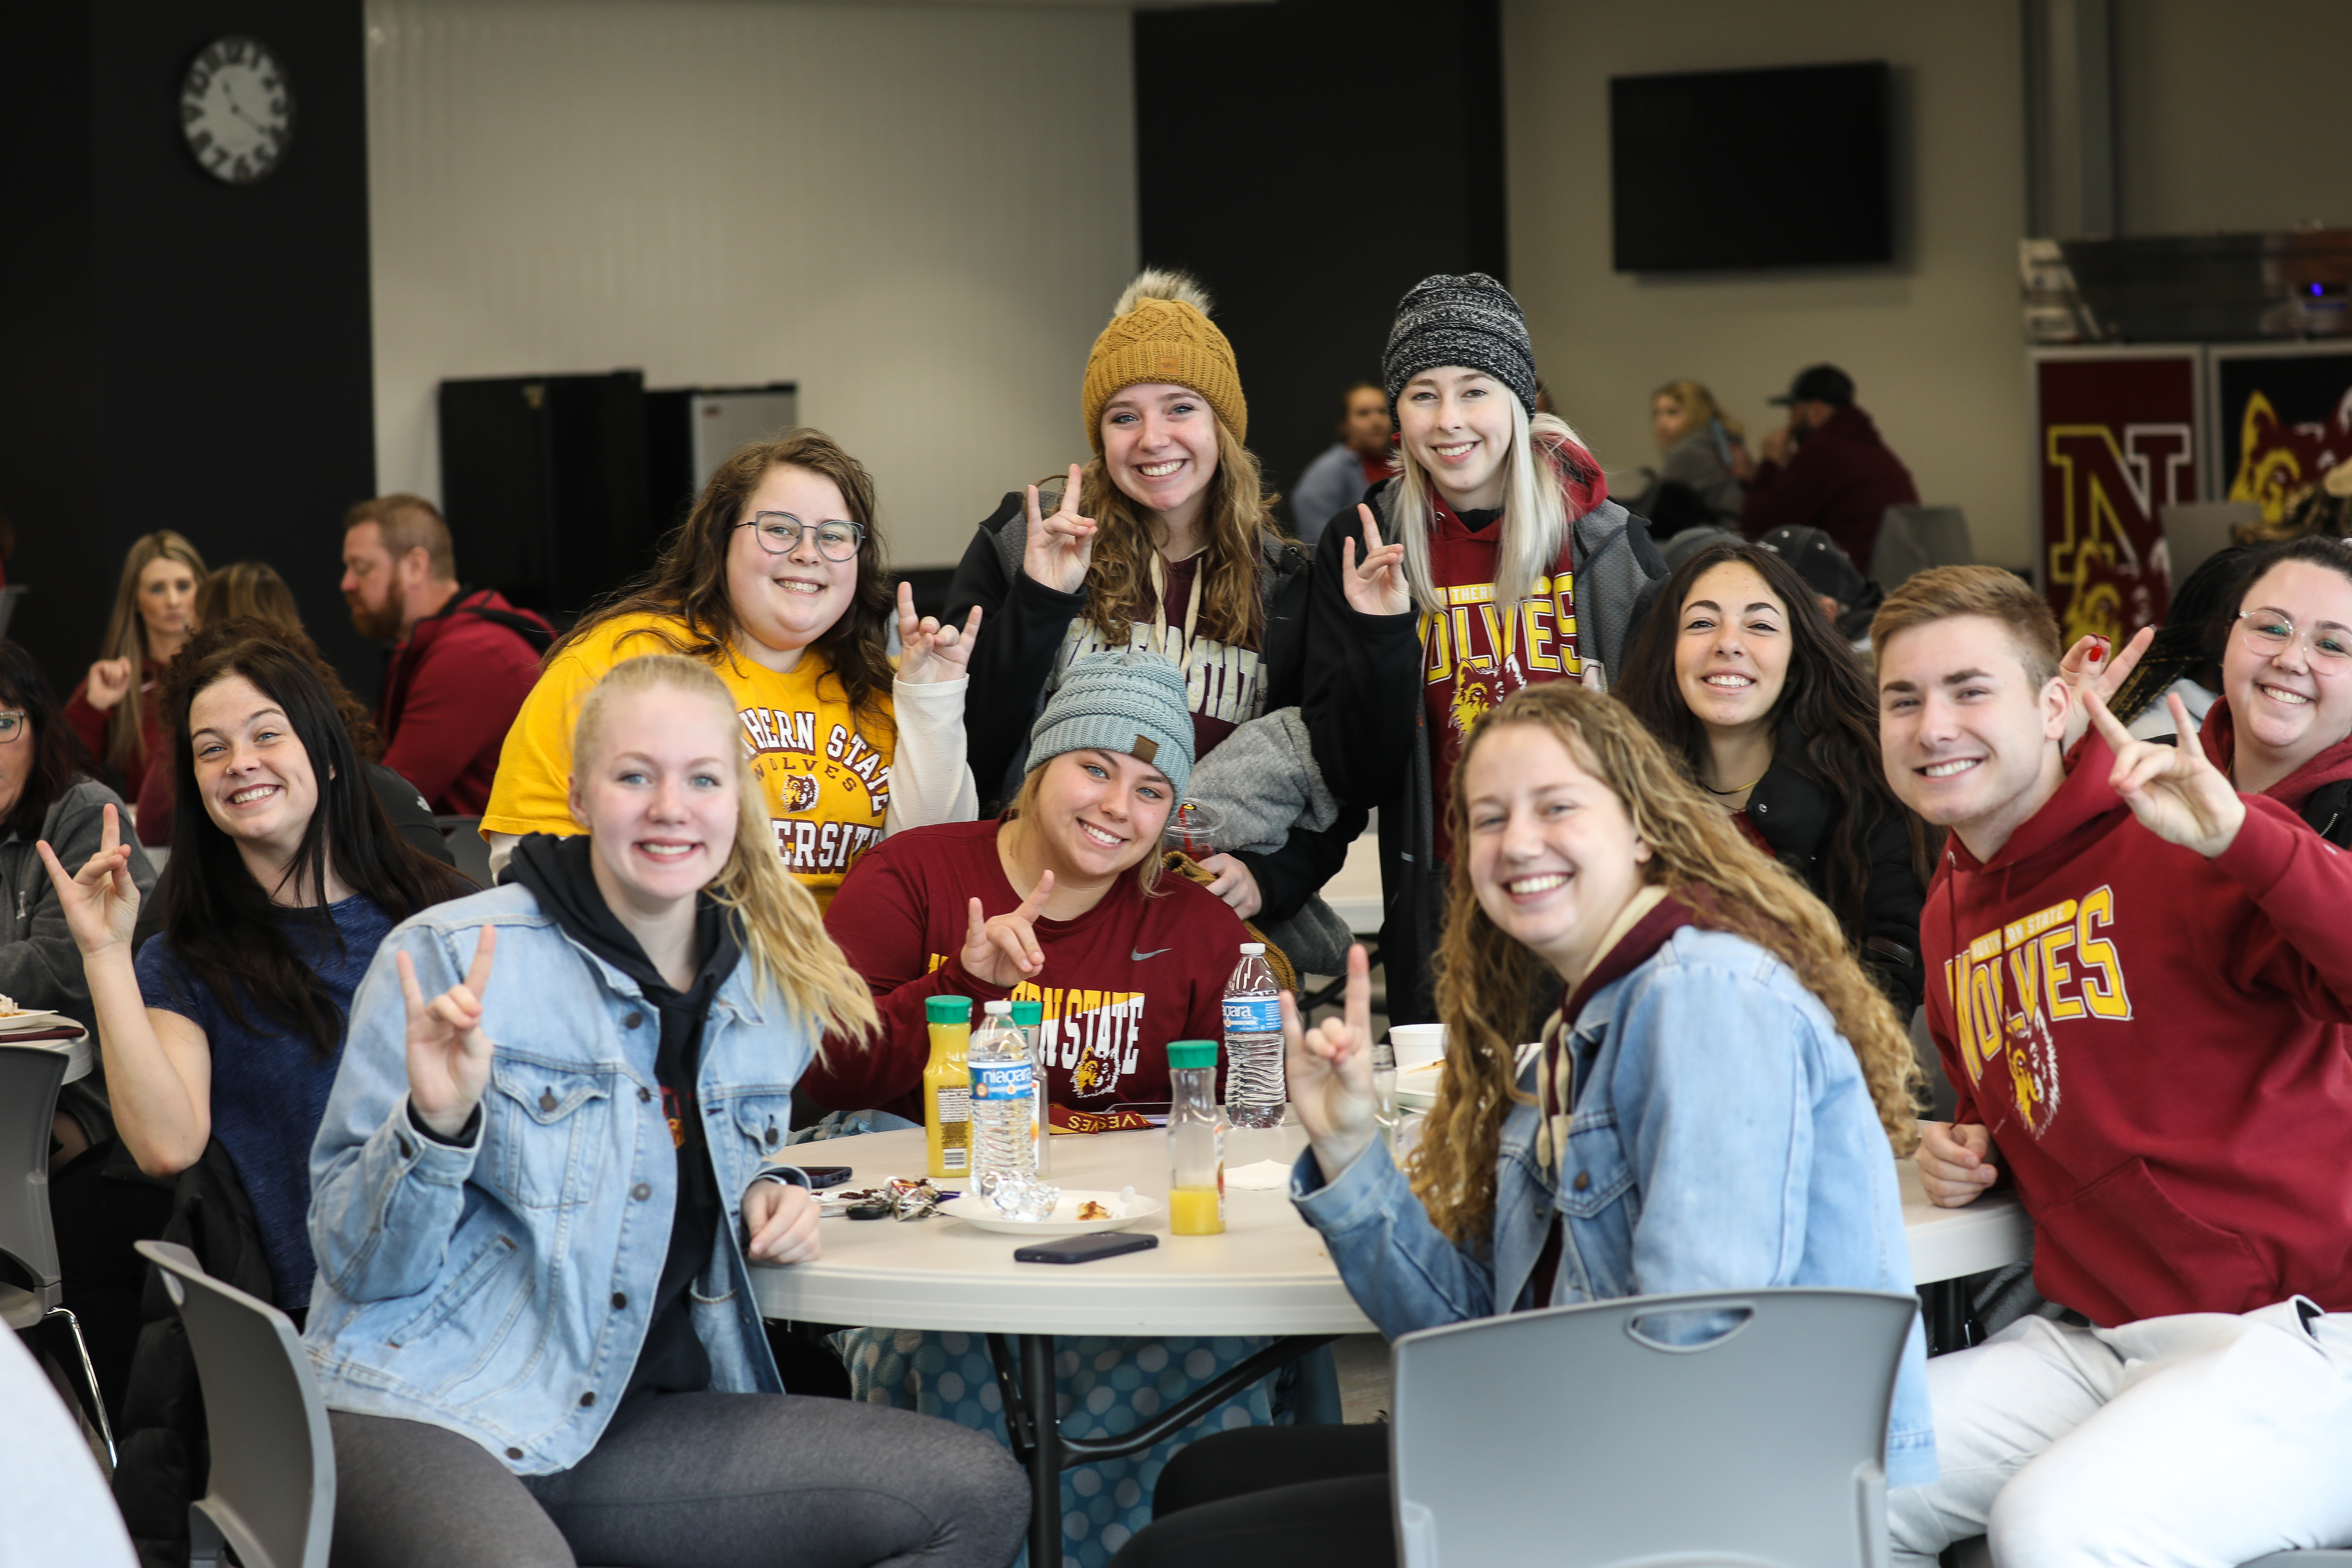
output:
[{"label": "round white table with drink bottles and dark metal legs", "polygon": [[[1228,1133],[1225,1171],[1261,1159],[1289,1164],[1305,1147],[1296,1126]],[[920,1131],[833,1138],[793,1150],[807,1164],[849,1166],[849,1187],[877,1187],[920,1175]],[[2025,1258],[2032,1225],[2013,1199],[1978,1199],[1966,1208],[1931,1208],[1912,1161],[1900,1164],[1903,1227],[1919,1284],[1959,1279]],[[771,1319],[938,1328],[988,1338],[1004,1394],[1014,1455],[1030,1469],[1030,1568],[1061,1563],[1061,1472],[1065,1460],[1143,1453],[1188,1427],[1200,1410],[1244,1382],[1284,1366],[1334,1335],[1376,1333],[1348,1295],[1322,1237],[1298,1218],[1287,1190],[1225,1187],[1225,1234],[1171,1237],[1167,1229],[1167,1133],[1096,1133],[1056,1138],[1051,1180],[1063,1187],[1131,1185],[1160,1199],[1162,1213],[1136,1225],[1160,1237],[1145,1253],[1077,1267],[1014,1262],[1018,1237],[974,1229],[950,1215],[955,1199],[929,1220],[826,1220],[823,1258],[755,1267],[753,1291]],[[962,1180],[941,1180],[962,1187]],[[1063,1439],[1054,1410],[1054,1335],[1277,1335],[1275,1345],[1197,1389],[1160,1420],[1122,1439]],[[1007,1335],[1018,1335],[1014,1363]]]}]

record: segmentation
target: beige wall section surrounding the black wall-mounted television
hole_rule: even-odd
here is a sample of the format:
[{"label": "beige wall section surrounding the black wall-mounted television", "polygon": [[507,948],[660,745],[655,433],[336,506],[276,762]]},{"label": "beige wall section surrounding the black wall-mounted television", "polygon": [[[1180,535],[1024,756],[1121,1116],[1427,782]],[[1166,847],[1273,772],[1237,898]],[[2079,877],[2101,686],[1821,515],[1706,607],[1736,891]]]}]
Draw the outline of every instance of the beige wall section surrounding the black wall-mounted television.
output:
[{"label": "beige wall section surrounding the black wall-mounted television", "polygon": [[[1656,451],[1649,390],[1705,381],[1748,423],[1816,360],[1969,512],[1980,559],[2027,564],[2030,435],[2018,317],[2025,207],[2016,0],[1505,0],[1512,292],[1562,414],[1621,475]],[[1635,277],[1609,268],[1609,78],[1884,59],[1898,73],[1903,259],[1886,268]],[[1802,127],[1722,150],[1726,181],[1804,179]]]}]

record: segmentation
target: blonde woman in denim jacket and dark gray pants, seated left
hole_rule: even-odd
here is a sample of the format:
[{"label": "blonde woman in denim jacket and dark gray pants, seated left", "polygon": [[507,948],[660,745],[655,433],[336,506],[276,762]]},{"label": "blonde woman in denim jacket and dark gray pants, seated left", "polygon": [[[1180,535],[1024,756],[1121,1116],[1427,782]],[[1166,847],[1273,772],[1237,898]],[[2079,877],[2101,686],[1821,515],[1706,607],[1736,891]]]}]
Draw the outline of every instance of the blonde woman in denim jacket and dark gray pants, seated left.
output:
[{"label": "blonde woman in denim jacket and dark gray pants, seated left", "polygon": [[[579,837],[395,929],[313,1154],[334,1561],[1002,1568],[1011,1458],[790,1396],[750,1262],[816,1258],[793,1079],[873,1001],[776,858],[734,696],[616,665]],[[840,1507],[842,1488],[858,1507]]]}]

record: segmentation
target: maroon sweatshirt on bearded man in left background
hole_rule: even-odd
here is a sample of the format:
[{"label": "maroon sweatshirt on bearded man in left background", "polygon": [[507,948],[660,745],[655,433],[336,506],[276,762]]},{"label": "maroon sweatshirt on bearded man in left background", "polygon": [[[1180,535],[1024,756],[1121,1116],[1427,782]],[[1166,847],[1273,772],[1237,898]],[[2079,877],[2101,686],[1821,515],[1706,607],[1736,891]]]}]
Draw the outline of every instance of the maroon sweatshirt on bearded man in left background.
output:
[{"label": "maroon sweatshirt on bearded man in left background", "polygon": [[515,630],[466,614],[470,609],[548,625],[492,588],[459,590],[393,651],[376,703],[383,766],[416,785],[442,816],[482,816],[489,806],[499,748],[539,682],[539,649]]}]

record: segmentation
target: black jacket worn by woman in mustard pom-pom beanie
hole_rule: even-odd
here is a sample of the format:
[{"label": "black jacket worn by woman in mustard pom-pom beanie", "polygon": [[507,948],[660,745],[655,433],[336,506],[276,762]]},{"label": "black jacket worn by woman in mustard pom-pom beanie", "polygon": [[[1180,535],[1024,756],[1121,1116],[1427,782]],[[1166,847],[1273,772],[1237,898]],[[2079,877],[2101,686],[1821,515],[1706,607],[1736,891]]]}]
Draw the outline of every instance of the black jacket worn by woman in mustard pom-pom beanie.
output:
[{"label": "black jacket worn by woman in mustard pom-pom beanie", "polygon": [[[1051,508],[1054,501],[1044,505]],[[1028,771],[1028,733],[1044,712],[1054,658],[1070,621],[1087,611],[1084,590],[1058,592],[1021,571],[1025,536],[1023,491],[1009,491],[981,522],[948,585],[943,625],[962,625],[974,604],[985,611],[981,637],[971,644],[971,686],[964,696],[964,755],[981,790],[981,816],[1002,811],[1018,795]],[[1296,541],[1268,536],[1258,574],[1265,602],[1265,632],[1258,639],[1263,712],[1298,708],[1305,693],[1308,576],[1305,550]],[[1315,759],[1322,762],[1319,745]],[[1270,856],[1235,853],[1258,879],[1263,910],[1256,919],[1282,922],[1298,914],[1348,860],[1348,844],[1364,832],[1364,820],[1367,811],[1343,797],[1338,820],[1327,830],[1291,830],[1289,844]]]}]

